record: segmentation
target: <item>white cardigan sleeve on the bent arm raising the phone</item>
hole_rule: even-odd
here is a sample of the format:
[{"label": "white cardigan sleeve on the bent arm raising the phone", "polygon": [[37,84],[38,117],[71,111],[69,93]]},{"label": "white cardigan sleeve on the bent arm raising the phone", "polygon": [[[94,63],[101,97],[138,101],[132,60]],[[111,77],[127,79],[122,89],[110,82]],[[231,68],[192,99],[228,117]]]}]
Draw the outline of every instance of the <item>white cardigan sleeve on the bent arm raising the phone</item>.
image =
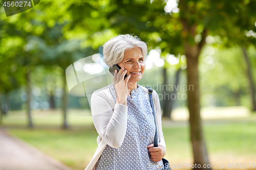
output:
[{"label": "white cardigan sleeve on the bent arm raising the phone", "polygon": [[103,93],[96,92],[92,94],[93,123],[99,136],[106,144],[112,148],[119,148],[126,133],[128,107],[115,104],[114,109],[112,109],[108,101]]}]

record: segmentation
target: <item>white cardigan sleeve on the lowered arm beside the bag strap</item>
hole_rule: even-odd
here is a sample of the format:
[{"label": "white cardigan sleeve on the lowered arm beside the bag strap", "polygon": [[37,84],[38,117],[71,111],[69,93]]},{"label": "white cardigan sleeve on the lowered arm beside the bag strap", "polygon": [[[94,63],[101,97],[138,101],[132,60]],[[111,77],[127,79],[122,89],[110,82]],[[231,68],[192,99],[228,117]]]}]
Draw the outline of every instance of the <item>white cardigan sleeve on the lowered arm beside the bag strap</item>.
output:
[{"label": "white cardigan sleeve on the lowered arm beside the bag strap", "polygon": [[161,107],[158,94],[155,90],[153,90],[153,100],[155,105],[156,111],[156,121],[158,126],[158,137],[159,137],[159,145],[162,145],[166,150],[166,145],[163,137],[163,130],[162,130],[162,119],[161,119]]}]

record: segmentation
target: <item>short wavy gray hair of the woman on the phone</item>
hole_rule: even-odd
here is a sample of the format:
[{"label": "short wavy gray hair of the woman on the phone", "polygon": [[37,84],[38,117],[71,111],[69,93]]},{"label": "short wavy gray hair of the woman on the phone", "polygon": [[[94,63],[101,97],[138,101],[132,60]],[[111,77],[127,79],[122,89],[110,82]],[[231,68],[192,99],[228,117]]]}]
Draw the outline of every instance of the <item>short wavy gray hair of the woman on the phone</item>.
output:
[{"label": "short wavy gray hair of the woman on the phone", "polygon": [[118,64],[123,60],[124,52],[134,47],[140,47],[142,55],[145,58],[147,54],[146,43],[141,41],[139,37],[131,34],[118,35],[103,45],[103,59],[109,67]]}]

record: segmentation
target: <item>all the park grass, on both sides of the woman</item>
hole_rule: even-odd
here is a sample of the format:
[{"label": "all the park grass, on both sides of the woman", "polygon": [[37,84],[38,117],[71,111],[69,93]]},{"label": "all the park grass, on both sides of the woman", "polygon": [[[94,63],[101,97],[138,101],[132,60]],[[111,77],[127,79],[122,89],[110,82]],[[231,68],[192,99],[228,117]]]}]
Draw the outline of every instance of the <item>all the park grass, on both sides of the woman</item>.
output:
[{"label": "all the park grass, on both sides of the woman", "polygon": [[[86,167],[97,148],[98,134],[93,128],[92,117],[88,116],[89,114],[90,112],[86,110],[69,112],[70,125],[81,126],[83,129],[61,130],[60,111],[34,112],[34,130],[12,128],[12,125],[26,127],[26,116],[21,112],[12,112],[5,117],[3,126],[10,127],[9,131],[12,134],[42,152],[78,170]],[[38,125],[43,128],[37,128]],[[59,128],[49,129],[49,126]],[[224,162],[225,164],[255,162],[256,114],[243,118],[203,120],[203,131],[210,163],[216,164],[216,169],[219,163]],[[182,121],[164,120],[163,133],[166,142],[166,159],[171,164],[193,163],[188,125]]]}]

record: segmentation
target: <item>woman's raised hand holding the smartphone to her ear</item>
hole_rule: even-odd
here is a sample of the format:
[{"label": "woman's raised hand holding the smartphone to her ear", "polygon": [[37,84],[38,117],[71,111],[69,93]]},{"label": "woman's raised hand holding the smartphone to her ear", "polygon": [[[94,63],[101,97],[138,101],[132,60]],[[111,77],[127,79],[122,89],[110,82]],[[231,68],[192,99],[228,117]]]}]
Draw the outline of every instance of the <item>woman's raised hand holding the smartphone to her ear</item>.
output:
[{"label": "woman's raised hand holding the smartphone to her ear", "polygon": [[114,74],[114,87],[116,89],[116,94],[117,94],[116,103],[123,104],[123,105],[127,105],[127,96],[128,96],[127,82],[131,77],[131,75],[128,75],[124,79],[126,72],[127,70],[124,69],[124,67],[122,67],[119,70],[119,72],[115,70],[115,74]]}]

